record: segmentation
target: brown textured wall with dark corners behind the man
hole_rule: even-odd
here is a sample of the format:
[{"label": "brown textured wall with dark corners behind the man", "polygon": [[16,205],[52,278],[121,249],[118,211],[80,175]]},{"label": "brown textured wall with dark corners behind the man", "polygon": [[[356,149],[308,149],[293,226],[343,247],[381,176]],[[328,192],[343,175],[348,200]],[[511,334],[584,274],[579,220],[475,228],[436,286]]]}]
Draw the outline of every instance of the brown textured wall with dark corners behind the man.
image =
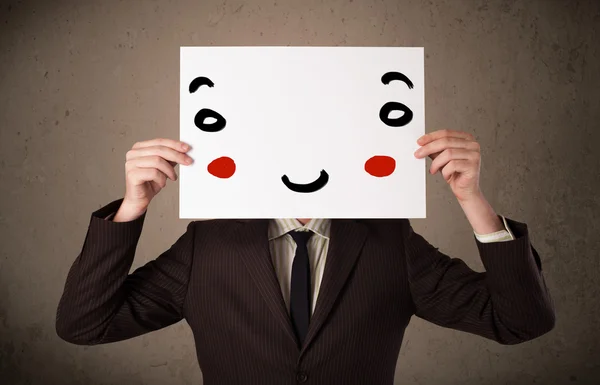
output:
[{"label": "brown textured wall with dark corners behind the man", "polygon": [[[200,384],[185,323],[68,345],[56,305],[91,212],[124,191],[137,140],[178,138],[179,46],[424,46],[427,130],[473,132],[482,188],[530,225],[556,329],[500,346],[413,319],[402,384],[592,384],[600,379],[600,2],[2,1],[0,383]],[[432,243],[481,270],[471,229],[428,175]],[[146,219],[134,267],[185,230],[178,186]]]}]

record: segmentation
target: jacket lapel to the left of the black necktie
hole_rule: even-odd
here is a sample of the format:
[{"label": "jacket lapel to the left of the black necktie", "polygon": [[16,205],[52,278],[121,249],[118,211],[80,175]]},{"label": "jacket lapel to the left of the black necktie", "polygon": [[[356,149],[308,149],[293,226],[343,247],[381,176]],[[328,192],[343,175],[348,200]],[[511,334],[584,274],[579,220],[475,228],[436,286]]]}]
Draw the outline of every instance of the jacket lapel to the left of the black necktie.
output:
[{"label": "jacket lapel to the left of the black necktie", "polygon": [[242,255],[242,260],[273,316],[279,321],[294,345],[297,346],[298,342],[292,321],[287,312],[281,294],[281,286],[271,260],[268,220],[240,221],[238,225],[239,236],[236,238],[240,242],[239,253]]}]

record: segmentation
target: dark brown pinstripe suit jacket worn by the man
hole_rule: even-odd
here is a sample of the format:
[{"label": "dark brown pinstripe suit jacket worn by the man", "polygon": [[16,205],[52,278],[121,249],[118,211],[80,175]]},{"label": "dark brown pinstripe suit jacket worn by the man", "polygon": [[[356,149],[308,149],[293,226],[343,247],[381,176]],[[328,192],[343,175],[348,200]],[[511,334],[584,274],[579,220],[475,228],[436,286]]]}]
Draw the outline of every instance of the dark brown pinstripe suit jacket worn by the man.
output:
[{"label": "dark brown pinstripe suit jacket worn by the man", "polygon": [[387,384],[413,314],[516,344],[554,326],[527,226],[479,243],[485,273],[415,233],[406,219],[333,220],[323,283],[298,347],[272,267],[267,220],[192,222],[156,260],[129,274],[145,215],[94,212],[68,274],[56,329],[81,345],[128,339],[185,318],[204,383]]}]

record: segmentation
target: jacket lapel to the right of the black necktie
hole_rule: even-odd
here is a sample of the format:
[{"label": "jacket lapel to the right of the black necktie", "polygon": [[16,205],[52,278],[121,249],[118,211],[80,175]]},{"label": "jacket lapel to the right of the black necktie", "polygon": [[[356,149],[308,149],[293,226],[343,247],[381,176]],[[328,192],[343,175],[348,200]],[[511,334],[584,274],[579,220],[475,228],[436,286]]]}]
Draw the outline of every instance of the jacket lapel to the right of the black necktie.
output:
[{"label": "jacket lapel to the right of the black necktie", "polygon": [[331,221],[331,240],[321,289],[300,355],[304,354],[331,312],[333,304],[362,250],[367,232],[367,227],[356,220],[336,219]]}]

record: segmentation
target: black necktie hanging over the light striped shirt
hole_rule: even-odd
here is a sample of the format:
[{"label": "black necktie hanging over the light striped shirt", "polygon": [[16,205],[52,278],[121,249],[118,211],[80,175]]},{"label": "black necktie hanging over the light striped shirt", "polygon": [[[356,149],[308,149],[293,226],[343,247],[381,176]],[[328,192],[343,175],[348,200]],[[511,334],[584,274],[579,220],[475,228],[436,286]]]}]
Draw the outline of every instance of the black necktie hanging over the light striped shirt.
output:
[{"label": "black necktie hanging over the light striped shirt", "polygon": [[308,260],[309,238],[312,231],[291,231],[289,233],[296,242],[296,255],[292,263],[292,283],[290,290],[290,314],[292,325],[298,336],[300,345],[308,332],[310,320],[310,262]]}]

